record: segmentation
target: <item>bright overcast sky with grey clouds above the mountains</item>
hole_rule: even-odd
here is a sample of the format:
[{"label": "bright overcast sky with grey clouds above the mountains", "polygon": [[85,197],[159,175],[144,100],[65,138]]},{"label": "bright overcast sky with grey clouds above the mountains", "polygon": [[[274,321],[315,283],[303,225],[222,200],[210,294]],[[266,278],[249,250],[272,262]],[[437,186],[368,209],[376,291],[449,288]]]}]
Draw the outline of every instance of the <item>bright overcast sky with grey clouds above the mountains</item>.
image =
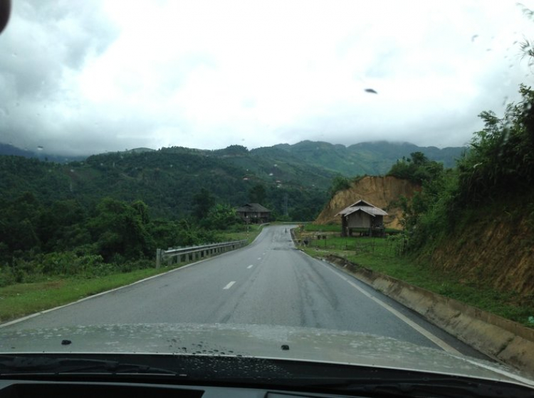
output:
[{"label": "bright overcast sky with grey clouds above the mountains", "polygon": [[515,1],[13,1],[0,142],[27,150],[461,146],[533,81]]}]

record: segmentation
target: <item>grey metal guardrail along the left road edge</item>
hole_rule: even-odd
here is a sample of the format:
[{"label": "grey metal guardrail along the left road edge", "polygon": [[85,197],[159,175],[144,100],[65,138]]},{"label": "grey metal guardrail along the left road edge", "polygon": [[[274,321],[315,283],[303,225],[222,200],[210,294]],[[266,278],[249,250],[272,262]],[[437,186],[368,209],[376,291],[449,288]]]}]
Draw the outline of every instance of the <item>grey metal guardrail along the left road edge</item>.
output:
[{"label": "grey metal guardrail along the left road edge", "polygon": [[195,261],[200,258],[216,256],[217,254],[225,253],[226,251],[235,250],[236,248],[241,248],[245,245],[246,239],[242,241],[211,243],[202,246],[169,248],[168,250],[158,248],[156,250],[156,268],[161,266],[162,261],[166,261],[167,265],[170,265],[171,263]]}]

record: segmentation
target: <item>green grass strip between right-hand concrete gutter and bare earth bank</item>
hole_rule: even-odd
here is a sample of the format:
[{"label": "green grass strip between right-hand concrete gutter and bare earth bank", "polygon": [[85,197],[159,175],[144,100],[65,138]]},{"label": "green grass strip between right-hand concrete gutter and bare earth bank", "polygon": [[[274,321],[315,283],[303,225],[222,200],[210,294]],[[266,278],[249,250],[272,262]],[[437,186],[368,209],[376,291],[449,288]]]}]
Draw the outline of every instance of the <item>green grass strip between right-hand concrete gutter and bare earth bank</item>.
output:
[{"label": "green grass strip between right-hand concrete gutter and bare earth bank", "polygon": [[[310,232],[313,234],[313,231],[308,234]],[[308,247],[300,247],[310,256],[322,258],[335,254],[373,271],[534,327],[531,318],[534,316],[534,300],[520,302],[515,292],[500,292],[481,283],[460,281],[455,273],[447,273],[409,256],[400,256],[400,239],[328,236],[328,239],[308,238],[308,242]]]}]

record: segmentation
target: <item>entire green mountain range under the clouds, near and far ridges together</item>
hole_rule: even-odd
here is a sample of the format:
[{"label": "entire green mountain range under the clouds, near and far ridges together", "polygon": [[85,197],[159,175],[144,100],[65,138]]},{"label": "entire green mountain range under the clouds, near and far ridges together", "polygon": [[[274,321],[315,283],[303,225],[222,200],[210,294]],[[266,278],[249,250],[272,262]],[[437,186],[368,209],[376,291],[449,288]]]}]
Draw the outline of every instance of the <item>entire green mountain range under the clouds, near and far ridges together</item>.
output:
[{"label": "entire green mountain range under the clouds, near and far ridges together", "polygon": [[222,203],[239,206],[248,201],[251,187],[262,184],[266,189],[262,204],[278,214],[288,211],[295,220],[315,219],[337,174],[385,174],[397,159],[417,151],[449,165],[464,150],[390,142],[345,147],[303,141],[253,150],[241,145],[221,150],[136,148],[74,162],[55,162],[47,155],[46,162],[29,151],[17,152],[6,145],[2,149],[12,156],[0,156],[0,200],[23,192],[32,192],[43,203],[77,199],[90,205],[102,197],[142,199],[156,216],[181,217],[190,213],[192,197],[201,188]]}]

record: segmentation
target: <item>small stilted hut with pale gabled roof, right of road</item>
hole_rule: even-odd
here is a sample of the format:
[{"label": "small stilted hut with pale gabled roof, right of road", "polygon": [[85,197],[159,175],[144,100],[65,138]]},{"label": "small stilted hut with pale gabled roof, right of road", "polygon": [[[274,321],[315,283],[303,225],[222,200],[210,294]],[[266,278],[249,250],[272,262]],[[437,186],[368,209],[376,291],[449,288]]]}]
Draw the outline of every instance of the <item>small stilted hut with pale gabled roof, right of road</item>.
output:
[{"label": "small stilted hut with pale gabled roof, right of road", "polygon": [[384,234],[384,216],[388,214],[377,206],[360,199],[336,216],[341,216],[341,235],[352,236],[353,231],[369,236],[382,236]]}]

